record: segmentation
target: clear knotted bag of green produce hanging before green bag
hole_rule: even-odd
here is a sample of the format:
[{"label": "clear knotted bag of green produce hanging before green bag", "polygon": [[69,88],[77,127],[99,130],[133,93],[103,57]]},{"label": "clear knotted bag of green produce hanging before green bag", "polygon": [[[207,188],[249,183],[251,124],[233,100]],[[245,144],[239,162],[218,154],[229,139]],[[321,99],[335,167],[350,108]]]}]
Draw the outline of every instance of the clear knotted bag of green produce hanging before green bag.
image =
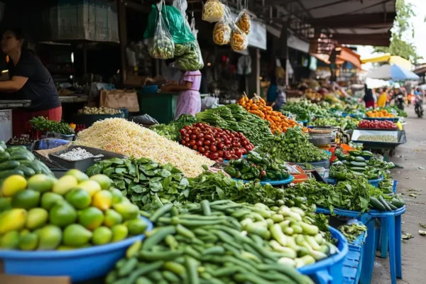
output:
[{"label": "clear knotted bag of green produce hanging before green bag", "polygon": [[175,57],[175,43],[165,24],[161,9],[163,1],[157,4],[158,18],[153,38],[148,43],[148,53],[152,58],[169,59]]}]

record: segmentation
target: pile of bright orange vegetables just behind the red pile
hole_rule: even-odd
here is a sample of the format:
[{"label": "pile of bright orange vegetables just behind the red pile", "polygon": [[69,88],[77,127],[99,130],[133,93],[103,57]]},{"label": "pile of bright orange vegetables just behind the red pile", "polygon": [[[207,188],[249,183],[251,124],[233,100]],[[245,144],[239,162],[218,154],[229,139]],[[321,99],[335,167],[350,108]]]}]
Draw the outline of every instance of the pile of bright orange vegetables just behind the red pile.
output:
[{"label": "pile of bright orange vegetables just behind the red pile", "polygon": [[[266,106],[266,102],[261,97],[256,96],[253,99],[249,99],[245,94],[239,99],[238,104],[244,107],[251,114],[256,114],[269,121],[272,133],[286,132],[288,128],[295,126],[301,126],[293,119],[289,119],[287,116],[280,113],[280,111],[273,111],[272,107]],[[301,126],[302,127],[302,126]],[[307,131],[303,128],[303,131]]]}]

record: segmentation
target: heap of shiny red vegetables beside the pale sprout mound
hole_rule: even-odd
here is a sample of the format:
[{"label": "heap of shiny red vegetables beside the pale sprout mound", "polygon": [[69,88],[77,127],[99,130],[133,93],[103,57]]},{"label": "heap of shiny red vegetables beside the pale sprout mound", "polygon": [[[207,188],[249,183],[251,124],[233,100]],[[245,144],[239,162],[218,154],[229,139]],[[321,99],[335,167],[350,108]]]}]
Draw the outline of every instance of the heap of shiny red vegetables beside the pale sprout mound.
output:
[{"label": "heap of shiny red vegetables beside the pale sprout mound", "polygon": [[254,148],[243,133],[200,123],[180,129],[180,143],[218,162],[241,158]]}]

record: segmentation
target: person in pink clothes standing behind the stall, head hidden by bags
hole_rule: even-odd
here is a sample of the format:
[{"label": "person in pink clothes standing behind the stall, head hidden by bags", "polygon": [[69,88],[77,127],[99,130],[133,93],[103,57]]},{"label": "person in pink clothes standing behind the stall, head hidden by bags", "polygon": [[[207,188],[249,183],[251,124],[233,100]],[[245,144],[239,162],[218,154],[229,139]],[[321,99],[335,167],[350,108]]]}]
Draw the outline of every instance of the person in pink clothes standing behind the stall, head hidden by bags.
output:
[{"label": "person in pink clothes standing behind the stall, head hidden by bags", "polygon": [[182,75],[179,84],[168,84],[161,88],[163,92],[179,92],[175,119],[182,114],[195,116],[201,111],[200,84],[200,70],[187,71]]}]

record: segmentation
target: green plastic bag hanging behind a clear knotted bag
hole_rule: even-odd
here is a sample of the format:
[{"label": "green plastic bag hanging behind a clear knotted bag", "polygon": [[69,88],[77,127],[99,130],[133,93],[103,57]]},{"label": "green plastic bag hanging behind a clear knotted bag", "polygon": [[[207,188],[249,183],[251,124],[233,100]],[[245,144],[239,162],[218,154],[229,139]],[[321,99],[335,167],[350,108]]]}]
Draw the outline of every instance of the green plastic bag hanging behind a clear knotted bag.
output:
[{"label": "green plastic bag hanging behind a clear knotted bag", "polygon": [[[157,6],[153,5],[153,10],[148,15],[148,27],[143,34],[144,38],[153,38],[155,35],[158,15],[160,14],[158,13]],[[170,35],[172,35],[174,43],[183,44],[190,43],[195,40],[194,35],[192,35],[190,27],[187,24],[187,20],[182,17],[180,10],[173,6],[166,6],[163,4],[161,8],[161,15],[163,16],[165,27],[168,28]]]}]

